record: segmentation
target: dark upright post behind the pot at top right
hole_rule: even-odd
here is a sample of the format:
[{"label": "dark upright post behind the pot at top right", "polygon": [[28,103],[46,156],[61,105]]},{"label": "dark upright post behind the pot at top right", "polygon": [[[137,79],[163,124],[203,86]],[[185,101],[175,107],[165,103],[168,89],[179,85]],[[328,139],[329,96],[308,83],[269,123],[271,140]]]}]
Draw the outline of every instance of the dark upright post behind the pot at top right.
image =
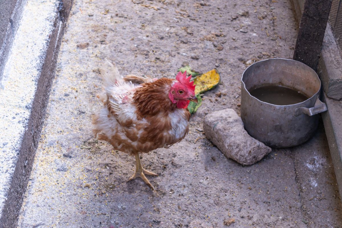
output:
[{"label": "dark upright post behind the pot at top right", "polygon": [[305,0],[293,59],[317,70],[332,0]]}]

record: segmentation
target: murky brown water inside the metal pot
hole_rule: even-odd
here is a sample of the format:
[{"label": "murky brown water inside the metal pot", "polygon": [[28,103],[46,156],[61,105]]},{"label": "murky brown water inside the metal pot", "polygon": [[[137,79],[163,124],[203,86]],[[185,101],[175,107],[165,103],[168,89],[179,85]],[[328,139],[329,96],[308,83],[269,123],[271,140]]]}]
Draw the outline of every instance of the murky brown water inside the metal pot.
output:
[{"label": "murky brown water inside the metal pot", "polygon": [[250,89],[248,92],[253,97],[274,105],[293,105],[309,98],[297,90],[281,85],[260,86],[255,89]]}]

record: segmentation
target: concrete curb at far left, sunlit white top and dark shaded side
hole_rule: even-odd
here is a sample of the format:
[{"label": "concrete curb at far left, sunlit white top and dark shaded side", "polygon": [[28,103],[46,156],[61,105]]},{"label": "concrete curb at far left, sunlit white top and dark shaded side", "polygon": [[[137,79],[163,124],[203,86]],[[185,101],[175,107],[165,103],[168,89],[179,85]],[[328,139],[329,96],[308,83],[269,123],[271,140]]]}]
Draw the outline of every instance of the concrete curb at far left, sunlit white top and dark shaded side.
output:
[{"label": "concrete curb at far left, sunlit white top and dark shaded side", "polygon": [[0,228],[17,226],[71,4],[72,0],[28,1],[3,69]]}]

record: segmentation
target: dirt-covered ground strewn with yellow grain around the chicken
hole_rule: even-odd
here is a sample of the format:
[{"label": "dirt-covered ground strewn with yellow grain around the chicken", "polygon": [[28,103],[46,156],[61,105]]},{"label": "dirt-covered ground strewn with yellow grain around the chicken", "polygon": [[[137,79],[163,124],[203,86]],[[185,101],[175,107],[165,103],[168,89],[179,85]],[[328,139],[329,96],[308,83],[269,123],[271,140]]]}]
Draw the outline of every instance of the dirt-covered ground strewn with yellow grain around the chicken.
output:
[{"label": "dirt-covered ground strewn with yellow grain around the chicken", "polygon": [[[210,111],[239,113],[248,65],[292,58],[293,18],[289,0],[76,0],[18,228],[342,227],[322,124],[307,143],[251,166],[225,158],[202,130]],[[139,178],[126,183],[134,158],[91,133],[104,58],[122,74],[173,78],[186,63],[221,74],[186,138],[143,155],[159,174],[148,177],[155,192]]]}]

